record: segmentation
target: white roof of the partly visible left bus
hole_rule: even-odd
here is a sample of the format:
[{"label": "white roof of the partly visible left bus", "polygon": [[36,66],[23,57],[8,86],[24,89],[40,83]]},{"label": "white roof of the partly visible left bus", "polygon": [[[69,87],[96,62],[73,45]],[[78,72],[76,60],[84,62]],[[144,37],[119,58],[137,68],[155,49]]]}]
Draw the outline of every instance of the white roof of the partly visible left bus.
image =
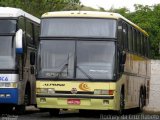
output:
[{"label": "white roof of the partly visible left bus", "polygon": [[36,23],[40,23],[40,19],[34,17],[33,15],[19,9],[19,8],[12,8],[12,7],[0,7],[0,18],[7,18],[7,17],[19,17],[24,16]]}]

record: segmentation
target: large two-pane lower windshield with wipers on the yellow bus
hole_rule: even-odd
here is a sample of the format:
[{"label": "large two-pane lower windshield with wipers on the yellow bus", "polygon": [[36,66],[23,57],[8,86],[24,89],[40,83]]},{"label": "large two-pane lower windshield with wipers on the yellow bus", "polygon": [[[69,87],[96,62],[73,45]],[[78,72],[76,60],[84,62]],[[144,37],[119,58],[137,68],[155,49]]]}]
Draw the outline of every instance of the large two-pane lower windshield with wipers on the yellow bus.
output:
[{"label": "large two-pane lower windshield with wipers on the yellow bus", "polygon": [[38,76],[61,79],[113,79],[115,43],[42,40]]}]

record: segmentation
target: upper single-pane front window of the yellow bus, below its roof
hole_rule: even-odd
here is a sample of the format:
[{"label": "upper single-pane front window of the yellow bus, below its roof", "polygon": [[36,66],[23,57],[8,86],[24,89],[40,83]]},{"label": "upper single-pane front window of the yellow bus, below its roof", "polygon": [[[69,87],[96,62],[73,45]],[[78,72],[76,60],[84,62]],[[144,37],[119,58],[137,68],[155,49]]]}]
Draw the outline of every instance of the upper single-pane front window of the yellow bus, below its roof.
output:
[{"label": "upper single-pane front window of the yellow bus, below its roof", "polygon": [[116,20],[96,18],[42,19],[41,36],[50,37],[116,37]]}]

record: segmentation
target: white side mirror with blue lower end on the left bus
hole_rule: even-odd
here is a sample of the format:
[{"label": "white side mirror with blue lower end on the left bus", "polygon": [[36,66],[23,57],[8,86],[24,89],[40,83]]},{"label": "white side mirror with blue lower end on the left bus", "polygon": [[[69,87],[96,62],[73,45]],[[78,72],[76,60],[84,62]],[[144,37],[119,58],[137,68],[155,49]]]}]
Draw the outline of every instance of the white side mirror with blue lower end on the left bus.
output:
[{"label": "white side mirror with blue lower end on the left bus", "polygon": [[16,32],[15,41],[16,41],[16,53],[22,54],[23,53],[23,45],[22,45],[23,31],[22,31],[22,29],[19,29]]}]

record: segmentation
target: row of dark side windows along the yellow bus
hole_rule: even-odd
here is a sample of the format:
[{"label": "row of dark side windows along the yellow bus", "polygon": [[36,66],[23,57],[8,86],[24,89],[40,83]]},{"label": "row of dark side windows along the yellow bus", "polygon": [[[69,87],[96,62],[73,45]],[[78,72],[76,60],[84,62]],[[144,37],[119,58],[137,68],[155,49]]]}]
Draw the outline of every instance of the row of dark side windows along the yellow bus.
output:
[{"label": "row of dark side windows along the yellow bus", "polygon": [[[118,29],[118,27],[120,26],[119,23],[121,23],[122,25],[122,30],[120,31]],[[127,38],[124,37],[124,33],[123,33],[123,29],[127,26]],[[131,36],[132,36],[132,40],[131,40],[131,44],[132,44],[132,49],[129,49],[129,29],[131,28]],[[121,33],[121,34],[120,34]],[[143,35],[143,37],[142,37]],[[120,38],[121,37],[121,38]],[[125,40],[125,39],[126,40]],[[143,41],[142,41],[142,38]],[[145,54],[149,54],[148,52],[145,53],[145,39],[147,39],[146,41],[148,41],[148,35],[145,34],[143,31],[139,30],[138,28],[136,28],[134,25],[128,23],[127,21],[123,20],[123,19],[118,19],[117,20],[117,42],[118,42],[118,47],[120,47],[121,49],[128,51],[129,53],[135,54],[135,55],[139,55],[143,58],[148,58],[149,55],[145,55]],[[127,42],[125,42],[127,41]],[[139,44],[139,45],[138,45]],[[146,43],[149,44],[149,43]],[[149,45],[146,45],[147,47],[147,51],[149,51]]]}]

